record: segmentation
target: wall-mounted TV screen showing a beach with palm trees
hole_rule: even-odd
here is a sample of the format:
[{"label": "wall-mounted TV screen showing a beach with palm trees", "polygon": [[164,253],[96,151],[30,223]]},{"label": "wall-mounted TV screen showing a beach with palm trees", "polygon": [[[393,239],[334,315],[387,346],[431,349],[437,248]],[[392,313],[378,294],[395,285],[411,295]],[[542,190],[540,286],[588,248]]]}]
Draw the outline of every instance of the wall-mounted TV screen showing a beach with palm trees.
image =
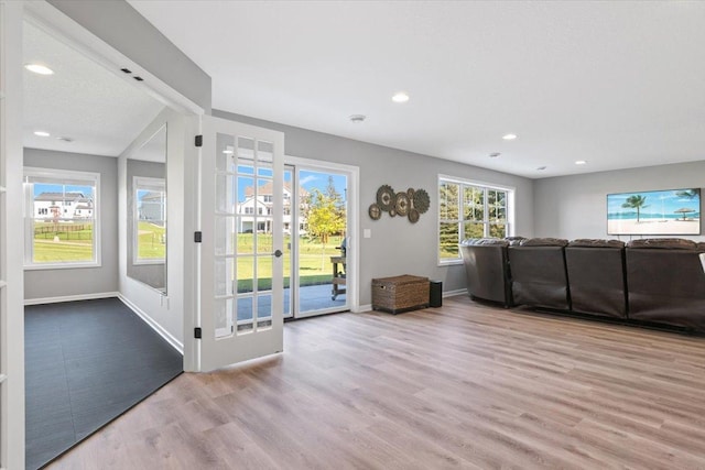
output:
[{"label": "wall-mounted TV screen showing a beach with palm trees", "polygon": [[608,234],[699,234],[699,188],[607,195]]}]

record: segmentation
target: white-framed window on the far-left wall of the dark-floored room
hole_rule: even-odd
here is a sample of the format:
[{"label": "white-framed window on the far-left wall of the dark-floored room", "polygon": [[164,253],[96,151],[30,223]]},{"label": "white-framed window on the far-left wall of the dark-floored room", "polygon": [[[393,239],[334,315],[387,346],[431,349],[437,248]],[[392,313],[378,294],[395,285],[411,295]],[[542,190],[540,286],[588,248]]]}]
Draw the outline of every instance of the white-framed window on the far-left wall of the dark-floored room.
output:
[{"label": "white-framed window on the far-left wall of the dark-floored room", "polygon": [[100,265],[100,175],[24,168],[26,269]]}]

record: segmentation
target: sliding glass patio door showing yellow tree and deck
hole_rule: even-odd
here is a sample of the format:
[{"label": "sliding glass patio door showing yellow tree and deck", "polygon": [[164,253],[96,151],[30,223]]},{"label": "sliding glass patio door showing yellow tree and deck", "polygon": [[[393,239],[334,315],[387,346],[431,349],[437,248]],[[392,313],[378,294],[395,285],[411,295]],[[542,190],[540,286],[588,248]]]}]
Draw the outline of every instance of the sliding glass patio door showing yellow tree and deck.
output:
[{"label": "sliding glass patio door showing yellow tree and deck", "polygon": [[355,298],[355,172],[296,159],[284,173],[284,317],[347,311]]}]

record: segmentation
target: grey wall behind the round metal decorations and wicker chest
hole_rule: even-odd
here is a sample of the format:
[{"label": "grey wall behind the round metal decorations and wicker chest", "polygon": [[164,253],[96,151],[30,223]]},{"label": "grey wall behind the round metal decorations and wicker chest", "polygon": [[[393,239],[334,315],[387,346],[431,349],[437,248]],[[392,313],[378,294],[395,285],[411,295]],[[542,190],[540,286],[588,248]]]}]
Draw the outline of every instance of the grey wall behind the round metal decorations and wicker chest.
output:
[{"label": "grey wall behind the round metal decorations and wicker chest", "polygon": [[[437,265],[437,178],[438,174],[512,186],[517,189],[517,233],[533,236],[533,183],[520,176],[463,165],[401,150],[324,134],[301,128],[261,121],[214,110],[214,116],[285,133],[285,153],[291,156],[356,165],[360,168],[360,305],[371,304],[371,280],[414,274],[443,281],[444,291],[466,288],[462,265]],[[416,223],[401,217],[373,221],[367,215],[377,189],[391,185],[395,190],[423,188],[431,196],[431,208]],[[362,238],[370,229],[372,237]]]}]

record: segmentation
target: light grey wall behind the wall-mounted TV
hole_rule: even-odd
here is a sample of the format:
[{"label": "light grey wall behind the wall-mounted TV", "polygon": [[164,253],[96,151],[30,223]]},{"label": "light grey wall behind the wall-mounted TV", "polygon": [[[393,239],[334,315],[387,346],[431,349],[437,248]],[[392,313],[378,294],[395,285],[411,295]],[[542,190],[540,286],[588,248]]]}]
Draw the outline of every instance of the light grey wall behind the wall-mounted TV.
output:
[{"label": "light grey wall behind the wall-mounted TV", "polygon": [[[565,239],[618,238],[607,236],[607,194],[704,186],[705,161],[538,179],[534,233]],[[702,236],[682,238],[705,240]],[[620,239],[628,241],[630,237]]]}]

